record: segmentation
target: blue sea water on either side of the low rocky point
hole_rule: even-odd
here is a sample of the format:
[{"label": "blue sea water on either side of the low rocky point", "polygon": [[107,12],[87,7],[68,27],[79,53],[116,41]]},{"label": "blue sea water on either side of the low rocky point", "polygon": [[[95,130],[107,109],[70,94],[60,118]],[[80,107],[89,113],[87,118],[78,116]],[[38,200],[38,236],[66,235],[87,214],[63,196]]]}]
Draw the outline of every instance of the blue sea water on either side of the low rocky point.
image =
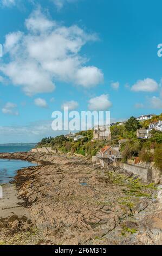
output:
[{"label": "blue sea water on either side of the low rocky point", "polygon": [[[34,144],[3,144],[0,145],[0,153],[26,152],[30,151],[34,146]],[[36,166],[36,164],[21,160],[0,159],[0,184],[9,183],[14,179],[18,169],[30,166]]]}]

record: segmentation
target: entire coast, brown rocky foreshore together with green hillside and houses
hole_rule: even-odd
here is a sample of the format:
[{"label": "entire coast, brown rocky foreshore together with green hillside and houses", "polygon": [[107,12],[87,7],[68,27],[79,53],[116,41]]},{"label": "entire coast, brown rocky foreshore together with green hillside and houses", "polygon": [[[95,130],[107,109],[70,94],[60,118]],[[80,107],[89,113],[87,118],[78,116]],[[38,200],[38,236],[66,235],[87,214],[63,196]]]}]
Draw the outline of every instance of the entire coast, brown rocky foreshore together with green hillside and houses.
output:
[{"label": "entire coast, brown rocky foreshore together with green hillside and houses", "polygon": [[131,117],[1,153],[37,164],[3,186],[0,245],[160,245],[161,120]]}]

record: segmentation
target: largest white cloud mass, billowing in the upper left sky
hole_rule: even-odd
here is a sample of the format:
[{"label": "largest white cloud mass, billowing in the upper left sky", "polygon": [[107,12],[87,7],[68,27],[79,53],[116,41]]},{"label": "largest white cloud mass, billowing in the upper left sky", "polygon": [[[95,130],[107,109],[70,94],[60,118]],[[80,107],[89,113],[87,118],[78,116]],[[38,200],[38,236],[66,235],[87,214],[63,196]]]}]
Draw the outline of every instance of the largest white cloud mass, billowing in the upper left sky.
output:
[{"label": "largest white cloud mass, billowing in the upper left sky", "polygon": [[48,19],[40,9],[25,21],[27,33],[12,32],[6,35],[4,52],[9,62],[0,70],[25,94],[49,93],[55,81],[93,87],[103,81],[102,71],[88,66],[80,55],[83,45],[96,41],[96,34],[88,34],[78,26],[65,27]]}]

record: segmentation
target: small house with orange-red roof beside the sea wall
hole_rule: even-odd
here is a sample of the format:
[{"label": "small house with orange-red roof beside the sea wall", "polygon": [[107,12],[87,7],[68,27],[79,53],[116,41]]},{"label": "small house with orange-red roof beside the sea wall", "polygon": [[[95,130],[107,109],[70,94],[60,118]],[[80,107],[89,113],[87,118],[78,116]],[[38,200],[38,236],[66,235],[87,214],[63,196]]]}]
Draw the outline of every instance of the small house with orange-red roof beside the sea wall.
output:
[{"label": "small house with orange-red roof beside the sea wall", "polygon": [[96,156],[99,158],[100,164],[103,167],[108,166],[111,162],[117,162],[121,159],[119,148],[113,148],[111,145],[106,145]]}]

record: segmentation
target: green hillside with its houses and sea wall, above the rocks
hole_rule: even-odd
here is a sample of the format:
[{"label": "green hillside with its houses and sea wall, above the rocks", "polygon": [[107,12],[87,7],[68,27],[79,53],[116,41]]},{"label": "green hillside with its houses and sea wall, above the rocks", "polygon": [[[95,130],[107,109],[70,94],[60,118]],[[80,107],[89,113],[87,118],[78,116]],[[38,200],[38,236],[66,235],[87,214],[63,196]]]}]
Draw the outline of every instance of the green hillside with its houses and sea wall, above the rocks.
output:
[{"label": "green hillside with its houses and sea wall, above the rocks", "polygon": [[[161,143],[162,115],[147,114],[110,126],[95,126],[89,131],[44,138],[31,151],[89,156],[94,166],[113,164],[124,172],[132,172],[145,181],[159,184],[162,182]],[[126,150],[132,152],[126,153]]]}]

